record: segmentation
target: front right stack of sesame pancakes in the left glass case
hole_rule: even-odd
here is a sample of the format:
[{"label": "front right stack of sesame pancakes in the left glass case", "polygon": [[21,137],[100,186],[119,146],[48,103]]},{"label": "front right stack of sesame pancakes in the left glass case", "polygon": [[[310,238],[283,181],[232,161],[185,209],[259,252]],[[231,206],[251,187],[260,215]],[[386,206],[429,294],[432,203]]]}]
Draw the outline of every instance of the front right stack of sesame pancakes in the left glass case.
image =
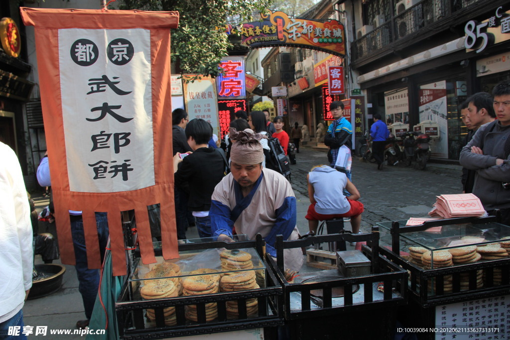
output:
[{"label": "front right stack of sesame pancakes in the left glass case", "polygon": [[[244,291],[247,289],[257,289],[259,285],[256,281],[256,275],[254,270],[247,270],[232,275],[225,275],[220,280],[220,289],[222,292],[237,292]],[[226,302],[226,313],[227,317],[231,319],[239,318],[239,308],[237,301]],[[256,298],[246,300],[246,314],[257,315],[258,313],[258,301]]]}]

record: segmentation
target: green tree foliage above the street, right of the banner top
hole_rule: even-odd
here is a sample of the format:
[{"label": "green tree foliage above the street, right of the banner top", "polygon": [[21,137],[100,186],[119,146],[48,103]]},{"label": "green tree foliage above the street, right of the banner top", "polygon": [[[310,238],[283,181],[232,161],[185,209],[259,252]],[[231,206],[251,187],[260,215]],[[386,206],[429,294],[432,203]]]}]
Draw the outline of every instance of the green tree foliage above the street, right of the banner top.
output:
[{"label": "green tree foliage above the street, right of the banner top", "polygon": [[[233,45],[225,34],[227,18],[252,20],[271,0],[122,0],[121,9],[179,11],[179,28],[171,31],[172,62],[182,73],[217,76],[221,58]],[[220,28],[220,29],[218,29]]]}]

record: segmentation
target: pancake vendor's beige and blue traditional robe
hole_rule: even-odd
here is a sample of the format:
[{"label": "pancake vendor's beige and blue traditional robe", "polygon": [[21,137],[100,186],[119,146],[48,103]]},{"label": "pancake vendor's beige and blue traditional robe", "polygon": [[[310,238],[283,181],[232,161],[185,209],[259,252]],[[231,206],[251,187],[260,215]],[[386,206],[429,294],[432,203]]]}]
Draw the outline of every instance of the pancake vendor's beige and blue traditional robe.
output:
[{"label": "pancake vendor's beige and blue traditional robe", "polygon": [[[246,234],[253,240],[260,233],[266,241],[266,251],[276,257],[276,235],[284,240],[296,240],[296,197],[289,181],[276,171],[263,168],[251,192],[243,197],[241,186],[232,173],[223,177],[212,195],[211,230],[213,236]],[[285,268],[299,270],[303,256],[301,249],[284,251]]]}]

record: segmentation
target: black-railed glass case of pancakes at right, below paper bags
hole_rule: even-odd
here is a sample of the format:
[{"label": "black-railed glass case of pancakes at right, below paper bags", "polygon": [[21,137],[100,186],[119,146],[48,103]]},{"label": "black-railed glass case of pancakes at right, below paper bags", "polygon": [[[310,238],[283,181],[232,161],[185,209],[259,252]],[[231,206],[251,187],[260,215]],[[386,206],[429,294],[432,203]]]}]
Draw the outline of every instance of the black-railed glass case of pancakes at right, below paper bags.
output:
[{"label": "black-railed glass case of pancakes at right, below paper bags", "polygon": [[[376,223],[381,254],[409,273],[409,289],[422,305],[501,294],[510,287],[510,227],[495,217],[454,218],[405,226]],[[457,300],[455,300],[457,299]]]}]

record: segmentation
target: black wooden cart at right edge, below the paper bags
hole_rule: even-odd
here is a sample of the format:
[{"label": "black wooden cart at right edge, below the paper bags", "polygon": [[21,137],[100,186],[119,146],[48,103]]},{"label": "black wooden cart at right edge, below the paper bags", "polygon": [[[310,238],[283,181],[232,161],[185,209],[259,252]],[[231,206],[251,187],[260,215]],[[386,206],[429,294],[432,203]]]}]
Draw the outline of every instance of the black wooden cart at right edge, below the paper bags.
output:
[{"label": "black wooden cart at right edge, below the paper bags", "polygon": [[[401,223],[405,223],[405,220],[401,220],[377,223],[379,226],[386,226],[386,228],[372,228],[373,230],[379,230],[381,232],[386,231],[391,233],[391,250],[385,247],[381,247],[380,253],[410,274],[409,284],[407,285],[407,297],[409,301],[406,306],[400,307],[399,320],[402,321],[403,326],[407,328],[415,330],[420,329],[421,331],[415,332],[418,338],[448,339],[455,338],[460,335],[467,335],[470,332],[453,332],[453,330],[463,328],[465,326],[466,319],[468,320],[468,328],[471,327],[473,329],[483,329],[491,328],[494,326],[495,323],[492,322],[493,320],[491,320],[491,324],[488,324],[490,319],[482,320],[481,317],[479,317],[477,320],[476,315],[480,315],[481,311],[476,311],[475,309],[484,306],[482,301],[487,301],[488,299],[490,301],[492,301],[492,299],[498,301],[501,299],[501,297],[503,297],[502,299],[505,300],[504,296],[510,293],[510,258],[484,260],[465,265],[456,264],[454,266],[445,268],[424,269],[413,264],[411,261],[409,261],[409,258],[400,256],[400,234],[420,232],[431,227],[462,225],[466,223],[471,224],[474,228],[479,228],[480,232],[483,232],[484,226],[487,226],[488,223],[497,223],[497,221],[498,218],[490,216],[483,218],[454,218],[434,220],[427,221],[417,226],[401,226]],[[389,227],[389,225],[391,225],[391,227]],[[508,228],[504,225],[500,226],[502,230]],[[502,231],[502,233],[506,233],[506,231]],[[492,242],[494,241],[486,241],[482,242],[481,244],[489,244]],[[417,244],[417,246],[418,245],[419,244]],[[483,270],[485,273],[482,287],[477,287],[476,284],[477,271],[479,270]],[[501,281],[497,284],[494,282],[495,270],[500,271],[501,273]],[[464,290],[462,290],[461,287],[461,275],[467,276],[469,278],[468,288]],[[444,281],[445,277],[447,276],[452,277],[451,292],[445,292],[444,290]],[[432,288],[429,289],[429,287]],[[460,315],[458,318],[454,317],[452,319],[450,315],[446,315],[446,310],[451,308],[451,306],[457,306],[458,303],[462,303],[462,305],[466,306],[471,304],[473,305],[472,307],[466,308],[473,309],[472,311],[468,310],[466,313],[463,312],[462,315]],[[508,303],[510,303],[510,300]],[[480,306],[475,307],[474,305]],[[441,322],[439,324],[438,313],[445,314],[444,321],[442,321],[442,318],[439,318],[441,319],[439,320]],[[470,313],[472,313],[472,315],[470,315]],[[470,321],[471,319],[472,323]],[[505,319],[506,320],[504,323],[506,324],[507,320],[510,320],[510,316],[505,316]],[[500,318],[498,318],[497,325],[498,327],[501,325]],[[498,333],[494,332],[497,337],[492,338],[506,339],[507,337],[510,337],[510,333],[502,334],[502,332],[508,332],[508,330],[506,330],[506,325],[502,328],[504,328],[504,330],[502,329]],[[476,335],[475,332],[472,332],[470,335],[473,334]],[[476,336],[474,338],[476,338]]]}]

